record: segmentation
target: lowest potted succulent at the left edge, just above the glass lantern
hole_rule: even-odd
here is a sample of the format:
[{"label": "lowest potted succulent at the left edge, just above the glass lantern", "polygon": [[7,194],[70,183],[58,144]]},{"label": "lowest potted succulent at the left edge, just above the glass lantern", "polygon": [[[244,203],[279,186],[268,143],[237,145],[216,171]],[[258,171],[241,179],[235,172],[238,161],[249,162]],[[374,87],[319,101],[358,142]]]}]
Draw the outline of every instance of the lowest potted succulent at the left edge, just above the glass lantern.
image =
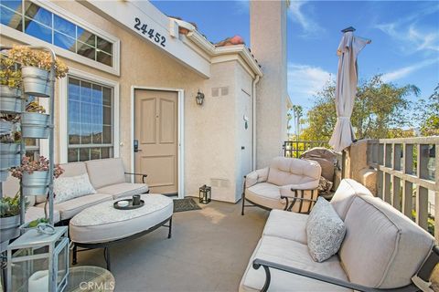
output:
[{"label": "lowest potted succulent at the left edge, just above the glass lantern", "polygon": [[[27,207],[28,203],[26,203]],[[0,199],[0,232],[1,242],[8,241],[20,235],[20,193],[14,197],[4,197]]]}]

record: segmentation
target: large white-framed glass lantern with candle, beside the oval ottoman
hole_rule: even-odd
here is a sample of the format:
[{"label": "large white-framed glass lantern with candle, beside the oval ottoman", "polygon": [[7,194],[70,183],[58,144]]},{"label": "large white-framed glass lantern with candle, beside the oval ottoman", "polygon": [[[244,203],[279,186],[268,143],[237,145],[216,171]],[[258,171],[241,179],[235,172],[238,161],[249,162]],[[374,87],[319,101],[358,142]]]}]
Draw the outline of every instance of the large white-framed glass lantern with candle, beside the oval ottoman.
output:
[{"label": "large white-framed glass lantern with candle, beside the oval ottoman", "polygon": [[63,291],[69,276],[68,227],[27,231],[7,246],[7,291]]}]

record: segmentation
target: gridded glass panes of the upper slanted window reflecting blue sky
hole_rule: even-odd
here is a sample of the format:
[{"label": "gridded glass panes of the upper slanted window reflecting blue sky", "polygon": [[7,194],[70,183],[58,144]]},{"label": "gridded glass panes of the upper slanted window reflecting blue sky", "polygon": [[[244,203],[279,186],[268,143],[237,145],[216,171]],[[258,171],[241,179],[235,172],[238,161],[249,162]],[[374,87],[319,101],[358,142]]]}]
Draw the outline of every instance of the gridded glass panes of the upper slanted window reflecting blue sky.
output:
[{"label": "gridded glass panes of the upper slanted window reflecting blue sky", "polygon": [[1,23],[57,47],[113,66],[113,43],[31,1],[0,2]]}]

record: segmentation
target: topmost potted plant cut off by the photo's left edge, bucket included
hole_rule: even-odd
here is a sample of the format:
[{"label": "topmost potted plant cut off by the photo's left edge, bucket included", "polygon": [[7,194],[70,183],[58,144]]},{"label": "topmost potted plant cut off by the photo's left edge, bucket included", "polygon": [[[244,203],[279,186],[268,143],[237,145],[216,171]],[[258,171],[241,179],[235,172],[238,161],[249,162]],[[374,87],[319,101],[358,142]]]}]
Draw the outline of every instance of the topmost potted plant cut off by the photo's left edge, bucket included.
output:
[{"label": "topmost potted plant cut off by the photo's left edge, bucket included", "polygon": [[9,57],[0,58],[0,109],[3,112],[21,111],[21,70]]}]

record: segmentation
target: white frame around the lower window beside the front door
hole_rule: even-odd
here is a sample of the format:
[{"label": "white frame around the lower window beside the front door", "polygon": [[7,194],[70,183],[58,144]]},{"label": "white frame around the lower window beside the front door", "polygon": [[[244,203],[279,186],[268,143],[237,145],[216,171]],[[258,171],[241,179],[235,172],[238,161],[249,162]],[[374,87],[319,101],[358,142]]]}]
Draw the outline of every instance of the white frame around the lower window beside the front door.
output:
[{"label": "white frame around the lower window beside the front door", "polygon": [[[68,77],[80,78],[85,81],[99,83],[111,87],[113,90],[113,157],[120,157],[120,85],[119,82],[102,78],[87,72],[70,68]],[[59,163],[67,163],[69,160],[69,78],[61,78],[59,81]]]}]

